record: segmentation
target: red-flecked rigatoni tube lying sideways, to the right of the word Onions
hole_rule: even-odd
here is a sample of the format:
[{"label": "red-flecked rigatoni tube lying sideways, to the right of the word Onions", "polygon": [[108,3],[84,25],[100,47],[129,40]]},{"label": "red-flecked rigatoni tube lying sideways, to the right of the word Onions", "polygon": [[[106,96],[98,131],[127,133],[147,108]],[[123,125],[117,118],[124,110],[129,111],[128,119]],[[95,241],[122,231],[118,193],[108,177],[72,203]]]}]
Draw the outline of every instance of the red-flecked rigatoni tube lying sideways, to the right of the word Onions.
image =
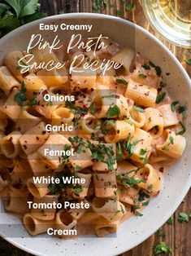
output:
[{"label": "red-flecked rigatoni tube lying sideways, to the right of the word Onions", "polygon": [[136,104],[143,107],[154,107],[157,94],[157,89],[133,82],[131,79],[125,91],[125,97],[133,99]]}]

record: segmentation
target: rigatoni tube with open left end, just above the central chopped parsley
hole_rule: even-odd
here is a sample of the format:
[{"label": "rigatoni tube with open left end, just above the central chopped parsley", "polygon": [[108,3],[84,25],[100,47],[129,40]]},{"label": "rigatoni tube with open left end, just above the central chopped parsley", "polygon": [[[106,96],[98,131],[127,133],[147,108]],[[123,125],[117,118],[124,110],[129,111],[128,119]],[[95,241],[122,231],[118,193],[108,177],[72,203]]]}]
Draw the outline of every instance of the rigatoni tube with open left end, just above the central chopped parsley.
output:
[{"label": "rigatoni tube with open left end, just above the central chopped parsley", "polygon": [[134,134],[135,127],[128,120],[106,121],[104,139],[107,143],[117,143],[119,140],[128,139],[128,135]]}]

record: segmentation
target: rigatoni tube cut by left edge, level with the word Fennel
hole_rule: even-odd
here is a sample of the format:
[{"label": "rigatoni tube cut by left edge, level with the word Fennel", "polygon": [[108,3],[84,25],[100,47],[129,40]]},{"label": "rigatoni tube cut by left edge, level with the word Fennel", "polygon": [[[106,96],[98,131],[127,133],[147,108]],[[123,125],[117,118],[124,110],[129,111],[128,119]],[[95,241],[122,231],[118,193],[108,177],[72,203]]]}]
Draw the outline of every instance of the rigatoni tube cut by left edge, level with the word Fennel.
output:
[{"label": "rigatoni tube cut by left edge, level with the word Fennel", "polygon": [[20,153],[20,137],[21,133],[15,130],[1,139],[0,148],[3,155],[8,158],[18,156]]}]

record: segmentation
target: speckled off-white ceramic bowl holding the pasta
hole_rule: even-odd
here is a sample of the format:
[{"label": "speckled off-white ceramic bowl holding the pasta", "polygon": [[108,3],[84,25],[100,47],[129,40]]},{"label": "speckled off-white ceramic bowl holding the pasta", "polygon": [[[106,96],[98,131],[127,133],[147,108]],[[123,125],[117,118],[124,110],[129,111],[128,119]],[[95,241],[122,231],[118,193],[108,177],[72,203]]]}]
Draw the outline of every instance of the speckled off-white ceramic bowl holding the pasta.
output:
[{"label": "speckled off-white ceramic bowl holding the pasta", "polygon": [[[187,147],[184,156],[176,161],[176,164],[167,171],[164,188],[159,195],[150,201],[142,217],[132,217],[122,223],[116,235],[113,237],[98,238],[79,237],[77,241],[64,241],[47,236],[28,236],[20,221],[11,214],[0,214],[0,235],[5,237],[11,244],[24,249],[31,254],[37,255],[116,255],[145,241],[159,227],[167,221],[167,218],[174,213],[184,196],[189,191],[191,183],[191,83],[188,74],[184,71],[176,57],[171,54],[163,43],[159,42],[149,32],[141,27],[109,15],[98,15],[90,13],[73,13],[67,15],[55,15],[43,20],[37,20],[26,24],[19,29],[7,34],[0,41],[0,60],[13,50],[24,50],[32,33],[38,33],[38,24],[51,23],[85,23],[93,24],[91,33],[84,32],[85,36],[99,35],[112,38],[120,45],[132,46],[141,55],[153,61],[163,68],[163,76],[167,81],[167,89],[172,99],[187,104],[188,117],[186,119]],[[55,33],[42,32],[49,40]],[[75,33],[75,32],[74,32]],[[76,32],[77,33],[77,32]],[[59,33],[62,38],[68,32]],[[171,73],[166,76],[165,73]],[[10,227],[3,224],[10,224]],[[16,225],[15,223],[19,223]],[[20,233],[20,237],[15,236]],[[23,236],[23,238],[21,237]]]}]

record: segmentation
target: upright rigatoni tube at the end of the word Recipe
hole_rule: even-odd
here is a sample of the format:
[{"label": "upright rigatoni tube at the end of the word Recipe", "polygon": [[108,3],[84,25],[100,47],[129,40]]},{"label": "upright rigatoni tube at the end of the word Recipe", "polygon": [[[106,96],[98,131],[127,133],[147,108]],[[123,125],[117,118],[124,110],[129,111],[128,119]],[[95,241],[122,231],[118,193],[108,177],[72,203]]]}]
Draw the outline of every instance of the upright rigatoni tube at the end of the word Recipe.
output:
[{"label": "upright rigatoni tube at the end of the word Recipe", "polygon": [[121,67],[116,69],[117,75],[128,75],[134,55],[135,51],[132,48],[124,47],[112,58],[116,63],[121,64]]}]

